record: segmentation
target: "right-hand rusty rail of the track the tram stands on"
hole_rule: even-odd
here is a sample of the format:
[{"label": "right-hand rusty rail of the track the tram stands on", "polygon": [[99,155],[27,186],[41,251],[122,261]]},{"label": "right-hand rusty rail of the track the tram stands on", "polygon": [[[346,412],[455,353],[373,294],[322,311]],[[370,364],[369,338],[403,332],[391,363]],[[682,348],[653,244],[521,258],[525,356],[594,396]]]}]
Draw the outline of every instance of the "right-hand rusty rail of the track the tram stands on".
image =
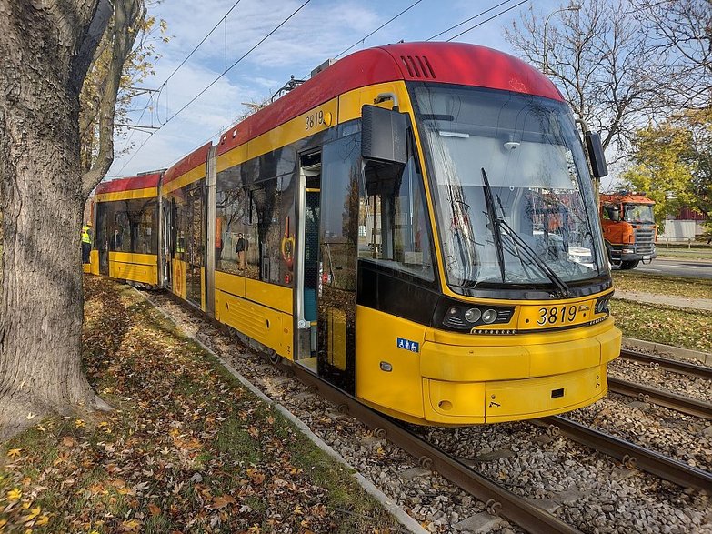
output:
[{"label": "right-hand rusty rail of the track the tram stands on", "polygon": [[641,469],[661,479],[674,482],[683,488],[695,488],[712,494],[712,473],[688,466],[654,450],[640,447],[625,439],[590,428],[560,416],[534,419],[533,423],[560,431],[577,443],[594,448],[607,456],[620,460],[628,469]]}]

